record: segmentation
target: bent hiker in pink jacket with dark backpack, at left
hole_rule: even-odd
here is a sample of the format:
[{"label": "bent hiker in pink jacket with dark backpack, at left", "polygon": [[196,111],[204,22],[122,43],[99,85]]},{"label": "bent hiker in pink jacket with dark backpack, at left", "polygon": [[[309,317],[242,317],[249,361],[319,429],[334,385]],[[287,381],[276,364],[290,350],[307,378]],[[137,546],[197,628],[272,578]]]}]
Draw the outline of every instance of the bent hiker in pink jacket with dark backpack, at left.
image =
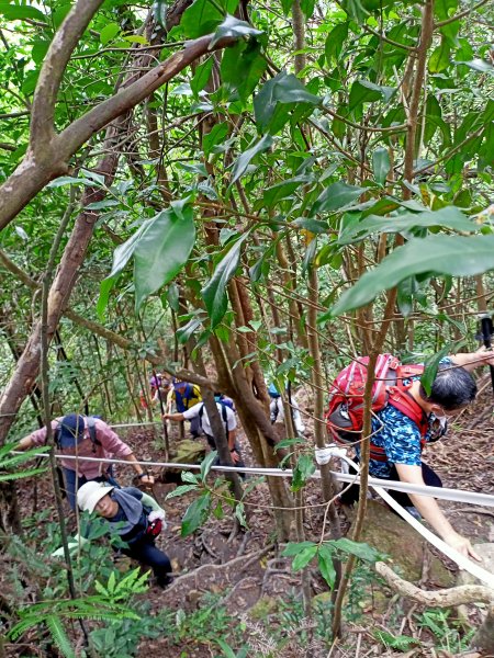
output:
[{"label": "bent hiker in pink jacket with dark backpack, at left", "polygon": [[[132,452],[132,449],[119,439],[117,434],[103,420],[92,416],[69,413],[52,420],[57,451],[77,460],[61,460],[67,499],[70,508],[76,509],[76,494],[89,480],[105,481],[112,476],[111,464],[89,462],[85,457],[103,460],[125,460],[132,464],[143,484],[151,485],[155,480],[144,472]],[[46,443],[46,428],[36,430],[19,442],[16,450],[30,450]]]}]

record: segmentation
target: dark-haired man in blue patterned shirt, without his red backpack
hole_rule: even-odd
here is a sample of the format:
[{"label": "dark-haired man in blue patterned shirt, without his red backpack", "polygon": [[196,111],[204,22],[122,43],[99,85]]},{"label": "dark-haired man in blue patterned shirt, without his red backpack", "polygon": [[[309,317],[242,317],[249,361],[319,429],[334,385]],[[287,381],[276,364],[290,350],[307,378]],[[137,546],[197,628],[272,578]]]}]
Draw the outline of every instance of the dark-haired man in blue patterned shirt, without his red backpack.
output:
[{"label": "dark-haired man in blue patterned shirt, without his red backpack", "polygon": [[[430,395],[420,384],[420,374],[411,376],[404,394],[418,416],[418,422],[400,411],[393,401],[373,413],[370,475],[382,479],[394,479],[413,485],[441,487],[439,476],[422,461],[422,447],[440,439],[452,419],[470,405],[476,395],[476,384],[470,374],[475,367],[493,364],[494,354],[485,348],[468,354],[453,354],[442,359]],[[408,411],[411,412],[411,411]],[[356,446],[357,457],[360,456]],[[351,504],[358,500],[359,488],[353,485],[341,495],[341,502]],[[390,490],[390,495],[403,507],[413,506],[434,530],[465,556],[481,559],[469,540],[458,534],[437,501],[430,497]],[[415,511],[415,510],[411,510]]]}]

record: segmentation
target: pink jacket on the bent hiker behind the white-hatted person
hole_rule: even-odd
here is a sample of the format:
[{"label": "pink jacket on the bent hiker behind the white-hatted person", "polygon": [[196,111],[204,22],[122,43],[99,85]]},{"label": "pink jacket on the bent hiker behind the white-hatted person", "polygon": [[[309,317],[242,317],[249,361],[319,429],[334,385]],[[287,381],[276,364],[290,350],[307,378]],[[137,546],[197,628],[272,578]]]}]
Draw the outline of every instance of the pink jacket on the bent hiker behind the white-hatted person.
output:
[{"label": "pink jacket on the bent hiker behind the white-hatted person", "polygon": [[[55,431],[64,417],[52,420],[52,429]],[[85,438],[80,443],[71,449],[58,449],[58,452],[64,455],[77,455],[78,460],[61,460],[64,468],[76,470],[79,476],[83,475],[87,479],[99,477],[106,469],[108,464],[103,462],[86,462],[83,457],[108,458],[116,457],[125,458],[132,454],[132,450],[126,443],[119,439],[117,434],[99,418],[94,419],[94,428],[98,443],[93,446],[89,430],[86,428]],[[34,445],[44,445],[46,443],[46,428],[36,430],[30,434],[30,439]]]}]

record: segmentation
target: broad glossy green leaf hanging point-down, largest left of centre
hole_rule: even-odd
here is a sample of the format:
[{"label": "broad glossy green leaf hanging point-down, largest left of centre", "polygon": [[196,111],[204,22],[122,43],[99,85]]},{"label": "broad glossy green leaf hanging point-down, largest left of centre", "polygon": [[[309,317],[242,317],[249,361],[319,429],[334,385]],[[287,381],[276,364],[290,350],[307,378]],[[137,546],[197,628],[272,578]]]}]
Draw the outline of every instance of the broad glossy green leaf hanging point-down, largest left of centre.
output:
[{"label": "broad glossy green leaf hanging point-down, largest left of centre", "polygon": [[193,211],[172,202],[151,219],[134,251],[135,306],[169,283],[183,268],[195,242]]}]

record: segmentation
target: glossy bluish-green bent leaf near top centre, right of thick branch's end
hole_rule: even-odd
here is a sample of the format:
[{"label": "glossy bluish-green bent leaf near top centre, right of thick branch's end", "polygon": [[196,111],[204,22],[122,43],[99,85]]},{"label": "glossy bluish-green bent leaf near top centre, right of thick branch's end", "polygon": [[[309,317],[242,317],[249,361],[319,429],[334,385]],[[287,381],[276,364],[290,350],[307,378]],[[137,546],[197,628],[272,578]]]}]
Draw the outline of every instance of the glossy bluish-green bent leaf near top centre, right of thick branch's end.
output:
[{"label": "glossy bluish-green bent leaf near top centre, right of thick branch's end", "polygon": [[295,106],[314,110],[321,102],[322,99],[310,93],[293,73],[281,71],[265,82],[254,99],[256,125],[259,132],[268,131],[274,135],[288,122]]}]

